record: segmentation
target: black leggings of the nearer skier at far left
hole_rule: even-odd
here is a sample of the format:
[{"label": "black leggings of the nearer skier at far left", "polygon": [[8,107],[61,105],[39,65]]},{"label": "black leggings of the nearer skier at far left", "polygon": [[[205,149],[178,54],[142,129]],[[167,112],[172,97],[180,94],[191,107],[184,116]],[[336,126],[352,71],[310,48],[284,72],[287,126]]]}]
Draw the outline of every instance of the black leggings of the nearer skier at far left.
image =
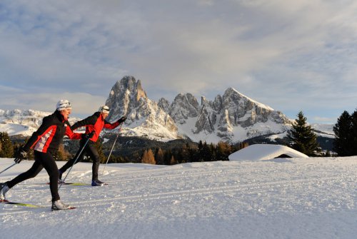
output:
[{"label": "black leggings of the nearer skier at far left", "polygon": [[9,188],[12,188],[17,183],[21,183],[29,178],[34,178],[37,174],[39,174],[42,168],[45,168],[47,173],[49,173],[49,188],[51,190],[52,202],[59,200],[59,169],[57,168],[54,158],[51,153],[41,153],[39,151],[34,151],[34,155],[35,162],[32,167],[28,171],[21,173],[13,180],[6,182],[6,184]]}]

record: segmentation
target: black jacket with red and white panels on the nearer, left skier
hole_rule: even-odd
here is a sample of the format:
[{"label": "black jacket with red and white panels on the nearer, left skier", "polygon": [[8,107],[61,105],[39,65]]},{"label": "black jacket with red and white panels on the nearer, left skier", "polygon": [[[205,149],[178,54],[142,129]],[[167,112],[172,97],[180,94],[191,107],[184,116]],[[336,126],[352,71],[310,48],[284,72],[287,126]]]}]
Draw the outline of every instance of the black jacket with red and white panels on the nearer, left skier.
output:
[{"label": "black jacket with red and white panels on the nearer, left skier", "polygon": [[64,135],[71,139],[81,139],[81,133],[74,133],[68,121],[55,111],[49,116],[44,117],[40,128],[32,134],[29,141],[24,146],[24,151],[33,148],[42,153],[56,153],[62,143]]}]

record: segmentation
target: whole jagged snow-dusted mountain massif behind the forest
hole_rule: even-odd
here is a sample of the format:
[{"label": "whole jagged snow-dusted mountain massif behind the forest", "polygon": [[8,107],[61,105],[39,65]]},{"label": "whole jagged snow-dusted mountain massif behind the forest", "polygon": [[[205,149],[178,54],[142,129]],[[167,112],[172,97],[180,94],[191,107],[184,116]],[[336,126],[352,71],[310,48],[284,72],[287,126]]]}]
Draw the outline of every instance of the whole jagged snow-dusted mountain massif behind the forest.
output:
[{"label": "whole jagged snow-dusted mountain massif behind the forest", "polygon": [[151,101],[141,81],[126,76],[111,88],[106,105],[109,120],[128,116],[124,132],[131,136],[191,138],[193,141],[243,141],[246,138],[281,134],[291,122],[279,111],[228,88],[213,101],[191,93],[179,93],[170,103]]}]

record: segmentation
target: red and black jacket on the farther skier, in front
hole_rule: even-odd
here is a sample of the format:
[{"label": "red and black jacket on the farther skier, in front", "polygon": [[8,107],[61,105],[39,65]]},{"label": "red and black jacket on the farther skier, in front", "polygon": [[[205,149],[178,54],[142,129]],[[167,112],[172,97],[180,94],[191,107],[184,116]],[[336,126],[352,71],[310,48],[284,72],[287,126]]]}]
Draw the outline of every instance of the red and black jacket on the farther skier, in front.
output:
[{"label": "red and black jacket on the farther skier, in front", "polygon": [[94,131],[94,136],[91,138],[91,141],[96,142],[103,128],[116,128],[116,126],[119,126],[119,122],[116,121],[114,123],[109,123],[108,121],[104,120],[100,112],[96,112],[93,116],[89,116],[84,120],[76,122],[71,127],[71,129],[74,131],[76,128],[84,126],[86,126],[86,133],[91,133],[92,131]]}]

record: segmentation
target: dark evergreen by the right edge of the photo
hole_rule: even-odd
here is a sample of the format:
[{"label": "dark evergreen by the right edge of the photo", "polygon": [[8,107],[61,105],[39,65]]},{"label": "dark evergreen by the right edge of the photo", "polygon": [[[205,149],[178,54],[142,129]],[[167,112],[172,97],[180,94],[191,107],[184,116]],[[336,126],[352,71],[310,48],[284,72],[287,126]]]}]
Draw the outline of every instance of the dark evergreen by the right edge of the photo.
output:
[{"label": "dark evergreen by the right edge of the photo", "polygon": [[341,116],[337,119],[337,123],[333,126],[333,133],[335,133],[333,150],[338,154],[338,156],[353,155],[352,131],[352,116],[347,111],[343,111]]}]

